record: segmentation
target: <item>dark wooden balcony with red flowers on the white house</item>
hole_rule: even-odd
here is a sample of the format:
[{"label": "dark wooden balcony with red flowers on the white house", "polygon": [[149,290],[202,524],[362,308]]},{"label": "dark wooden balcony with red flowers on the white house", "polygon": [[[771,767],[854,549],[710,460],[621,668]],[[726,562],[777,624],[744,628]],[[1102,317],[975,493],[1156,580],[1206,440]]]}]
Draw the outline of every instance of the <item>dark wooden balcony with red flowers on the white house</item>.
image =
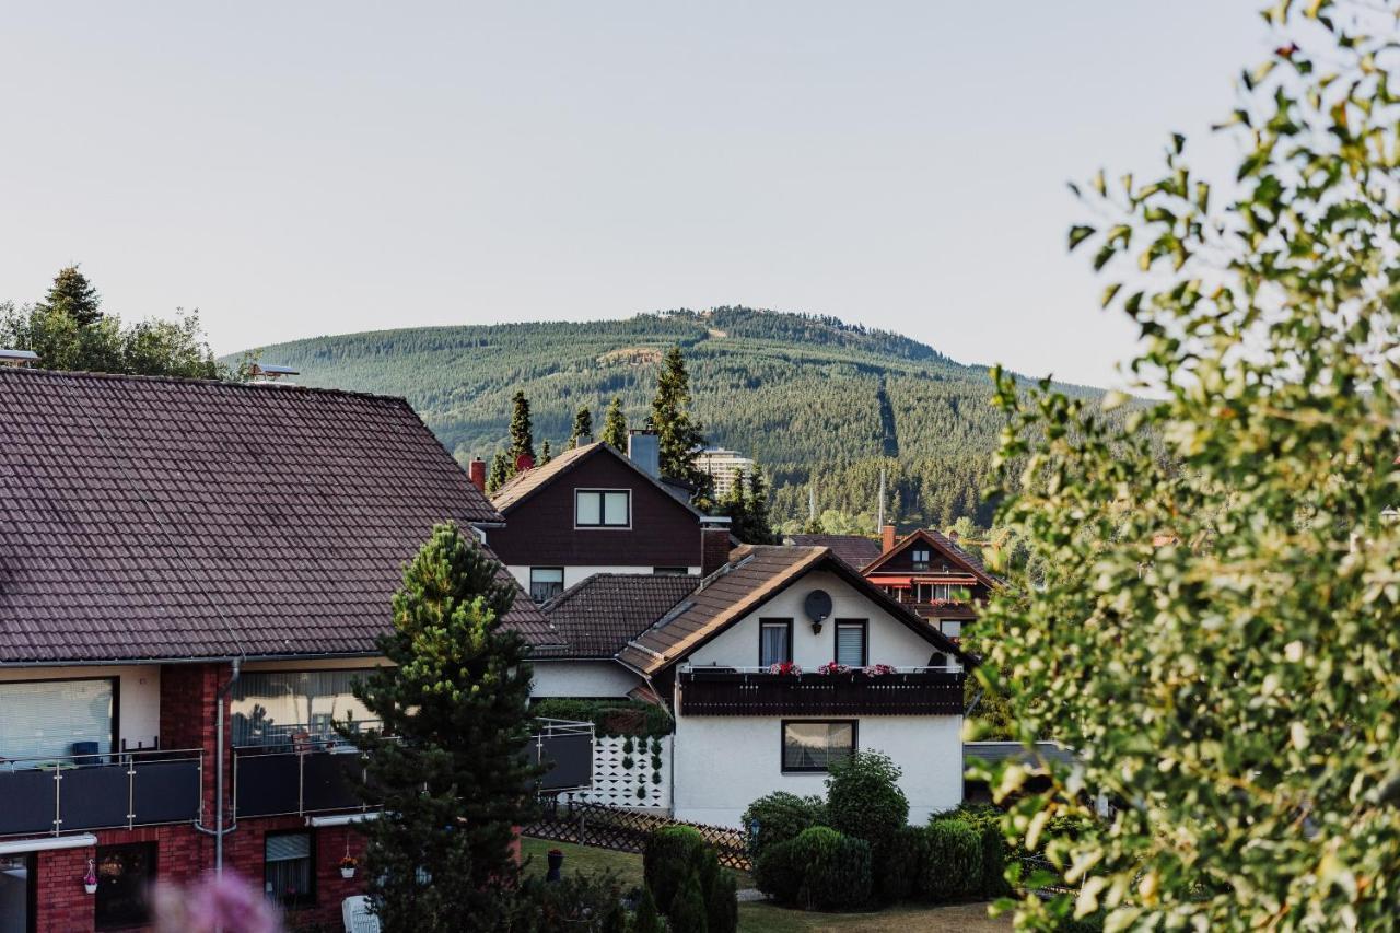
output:
[{"label": "dark wooden balcony with red flowers on the white house", "polygon": [[963,672],[955,667],[798,675],[690,668],[679,677],[682,716],[958,716],[963,712]]}]

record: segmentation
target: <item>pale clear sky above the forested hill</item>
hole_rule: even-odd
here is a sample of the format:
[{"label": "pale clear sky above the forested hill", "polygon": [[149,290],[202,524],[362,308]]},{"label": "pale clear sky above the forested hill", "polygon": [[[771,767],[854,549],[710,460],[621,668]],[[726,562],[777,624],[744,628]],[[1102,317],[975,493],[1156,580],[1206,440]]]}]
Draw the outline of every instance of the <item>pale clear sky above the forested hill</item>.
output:
[{"label": "pale clear sky above the forested hill", "polygon": [[1135,333],[1065,252],[1065,182],[1173,130],[1225,168],[1256,8],[13,4],[0,300],[78,262],[218,353],[746,304],[1117,387]]}]

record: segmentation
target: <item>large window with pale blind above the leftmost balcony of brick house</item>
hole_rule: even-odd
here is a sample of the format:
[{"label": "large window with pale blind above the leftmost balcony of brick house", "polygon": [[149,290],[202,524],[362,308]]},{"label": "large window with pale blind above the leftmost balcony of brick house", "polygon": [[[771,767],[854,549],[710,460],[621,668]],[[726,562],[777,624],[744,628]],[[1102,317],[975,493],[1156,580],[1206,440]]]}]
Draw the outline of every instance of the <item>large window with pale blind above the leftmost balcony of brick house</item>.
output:
[{"label": "large window with pale blind above the leftmost balcony of brick house", "polygon": [[0,684],[0,758],[38,766],[116,749],[116,678]]}]

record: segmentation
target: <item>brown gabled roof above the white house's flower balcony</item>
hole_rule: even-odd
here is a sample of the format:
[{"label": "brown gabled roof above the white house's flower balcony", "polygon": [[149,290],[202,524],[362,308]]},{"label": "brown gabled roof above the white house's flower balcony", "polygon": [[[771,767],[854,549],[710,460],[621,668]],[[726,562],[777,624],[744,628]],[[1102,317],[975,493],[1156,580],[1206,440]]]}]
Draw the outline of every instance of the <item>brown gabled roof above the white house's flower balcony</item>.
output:
[{"label": "brown gabled roof above the white house's flower balcony", "polygon": [[829,570],[864,597],[907,625],[939,651],[966,658],[937,628],[921,619],[829,548],[743,545],[729,553],[729,563],[704,579],[686,598],[682,612],[665,616],[643,632],[617,658],[644,674],[655,674],[693,653],[731,625],[801,580],[811,570]]}]

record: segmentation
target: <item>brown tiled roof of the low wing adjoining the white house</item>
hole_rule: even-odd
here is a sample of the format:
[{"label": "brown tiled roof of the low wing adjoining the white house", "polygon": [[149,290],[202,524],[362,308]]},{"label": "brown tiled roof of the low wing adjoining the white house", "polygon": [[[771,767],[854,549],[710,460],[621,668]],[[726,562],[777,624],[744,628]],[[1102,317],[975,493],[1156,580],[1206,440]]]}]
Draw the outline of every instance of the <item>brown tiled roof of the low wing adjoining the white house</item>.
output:
[{"label": "brown tiled roof of the low wing adjoining the white house", "polygon": [[542,607],[564,646],[535,654],[610,658],[697,586],[700,577],[679,574],[596,573]]}]

